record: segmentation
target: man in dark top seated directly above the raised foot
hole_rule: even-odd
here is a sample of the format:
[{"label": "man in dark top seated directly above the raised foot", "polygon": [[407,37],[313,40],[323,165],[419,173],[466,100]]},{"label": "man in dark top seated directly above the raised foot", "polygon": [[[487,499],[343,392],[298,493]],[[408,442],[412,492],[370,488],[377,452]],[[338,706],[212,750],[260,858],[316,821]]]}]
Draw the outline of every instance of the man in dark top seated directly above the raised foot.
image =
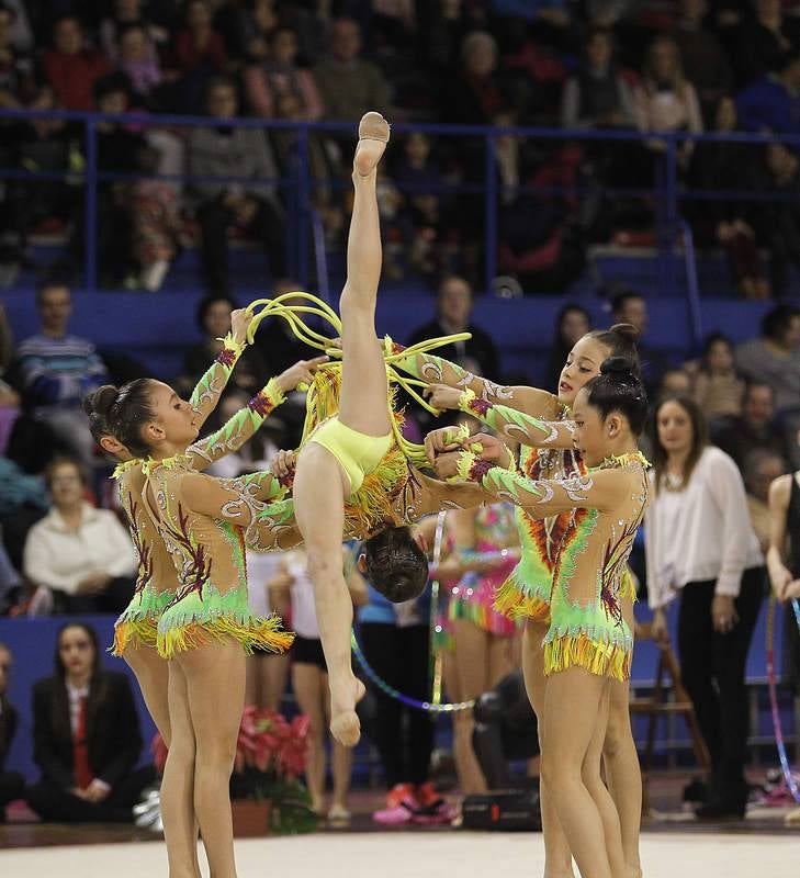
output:
[{"label": "man in dark top seated directly above the raised foot", "polygon": [[361,29],[352,19],[334,23],[330,57],[314,68],[314,78],[327,119],[357,122],[368,110],[388,111],[388,83],[361,57]]}]

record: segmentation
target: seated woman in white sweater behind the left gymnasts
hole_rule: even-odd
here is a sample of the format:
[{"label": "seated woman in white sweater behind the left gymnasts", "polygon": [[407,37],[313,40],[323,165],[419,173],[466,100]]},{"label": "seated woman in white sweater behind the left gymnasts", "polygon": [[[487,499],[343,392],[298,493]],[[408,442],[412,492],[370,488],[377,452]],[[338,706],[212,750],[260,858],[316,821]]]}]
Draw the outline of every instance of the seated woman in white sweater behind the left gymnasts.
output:
[{"label": "seated woman in white sweater behind the left gymnasts", "polygon": [[136,556],[131,538],[109,509],[84,499],[86,477],[76,461],[47,468],[53,508],[25,541],[23,571],[44,611],[122,612],[133,596]]}]

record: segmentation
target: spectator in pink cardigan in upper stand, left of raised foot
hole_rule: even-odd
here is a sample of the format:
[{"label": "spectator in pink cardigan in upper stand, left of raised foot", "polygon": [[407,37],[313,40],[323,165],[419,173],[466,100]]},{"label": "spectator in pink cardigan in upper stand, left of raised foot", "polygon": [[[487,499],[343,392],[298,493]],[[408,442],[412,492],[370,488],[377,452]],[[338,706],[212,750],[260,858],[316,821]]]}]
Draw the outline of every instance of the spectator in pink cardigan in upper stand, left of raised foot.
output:
[{"label": "spectator in pink cardigan in upper stand, left of raised foot", "polygon": [[245,71],[247,100],[257,116],[274,116],[277,102],[286,93],[298,103],[294,113],[298,121],[315,122],[323,115],[316,81],[297,66],[297,34],[291,27],[277,27],[270,34],[269,56]]}]

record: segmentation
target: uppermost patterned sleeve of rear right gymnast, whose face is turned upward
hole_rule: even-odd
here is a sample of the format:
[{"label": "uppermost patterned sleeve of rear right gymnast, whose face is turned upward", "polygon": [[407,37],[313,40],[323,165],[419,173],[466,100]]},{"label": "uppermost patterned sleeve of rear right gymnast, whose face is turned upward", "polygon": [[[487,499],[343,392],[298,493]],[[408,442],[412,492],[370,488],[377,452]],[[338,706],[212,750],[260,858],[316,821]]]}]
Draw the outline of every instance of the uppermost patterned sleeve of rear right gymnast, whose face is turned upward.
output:
[{"label": "uppermost patterned sleeve of rear right gymnast, whose face is turned upward", "polygon": [[[402,354],[405,348],[391,341],[391,352]],[[428,384],[447,384],[449,387],[471,390],[478,399],[491,403],[503,403],[511,408],[530,415],[555,418],[559,414],[559,401],[552,393],[537,387],[503,386],[485,378],[467,372],[457,363],[437,357],[433,353],[409,353],[408,357],[393,359],[393,365],[402,369]]]}]

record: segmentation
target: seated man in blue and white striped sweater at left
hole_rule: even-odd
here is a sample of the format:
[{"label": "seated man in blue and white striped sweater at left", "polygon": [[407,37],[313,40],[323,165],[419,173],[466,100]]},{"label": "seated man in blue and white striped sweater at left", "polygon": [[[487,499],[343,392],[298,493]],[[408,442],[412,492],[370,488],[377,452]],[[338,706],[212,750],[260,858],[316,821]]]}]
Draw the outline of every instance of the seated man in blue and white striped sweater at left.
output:
[{"label": "seated man in blue and white striped sweater at left", "polygon": [[86,466],[94,462],[94,440],[81,408],[87,393],[108,383],[94,345],[67,334],[69,288],[45,281],[36,293],[41,331],[20,342],[18,372],[23,405],[45,421]]}]

